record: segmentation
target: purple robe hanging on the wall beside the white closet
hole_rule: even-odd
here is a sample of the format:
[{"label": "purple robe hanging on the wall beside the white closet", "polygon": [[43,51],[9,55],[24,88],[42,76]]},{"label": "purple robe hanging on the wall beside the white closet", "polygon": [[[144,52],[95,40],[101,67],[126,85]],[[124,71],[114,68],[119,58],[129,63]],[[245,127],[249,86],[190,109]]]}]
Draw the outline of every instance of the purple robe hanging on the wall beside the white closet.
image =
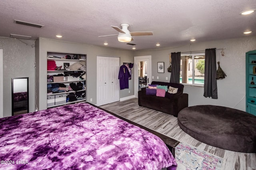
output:
[{"label": "purple robe hanging on the wall beside the white closet", "polygon": [[119,79],[119,83],[120,83],[120,90],[129,88],[129,77],[130,76],[131,76],[131,74],[130,74],[127,66],[125,66],[125,65],[120,66],[119,75],[118,75],[118,79]]}]

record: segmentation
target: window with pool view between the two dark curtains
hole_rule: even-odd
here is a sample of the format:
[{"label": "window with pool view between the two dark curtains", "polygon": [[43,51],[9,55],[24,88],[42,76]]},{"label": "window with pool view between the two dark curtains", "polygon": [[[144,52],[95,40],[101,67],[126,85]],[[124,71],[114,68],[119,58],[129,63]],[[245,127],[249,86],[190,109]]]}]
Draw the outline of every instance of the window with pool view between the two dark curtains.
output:
[{"label": "window with pool view between the two dark curtains", "polygon": [[180,83],[204,85],[204,53],[180,56]]}]

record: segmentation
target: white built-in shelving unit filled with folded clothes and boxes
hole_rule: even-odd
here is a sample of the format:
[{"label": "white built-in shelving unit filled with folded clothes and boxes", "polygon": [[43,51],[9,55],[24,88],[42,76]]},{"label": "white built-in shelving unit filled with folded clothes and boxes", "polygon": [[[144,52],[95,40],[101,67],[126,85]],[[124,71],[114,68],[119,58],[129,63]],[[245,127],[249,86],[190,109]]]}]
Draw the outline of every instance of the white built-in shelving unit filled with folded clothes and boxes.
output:
[{"label": "white built-in shelving unit filled with folded clothes and boxes", "polygon": [[[65,59],[65,56],[76,56],[73,58],[78,58],[80,57],[80,59]],[[56,56],[56,57],[60,57],[59,58],[50,58],[49,56]],[[68,90],[68,91],[64,91],[62,92],[62,90],[60,90],[60,92],[52,92],[52,93],[48,93],[47,94],[47,108],[50,107],[56,107],[56,106],[62,106],[62,105],[66,105],[66,104],[72,104],[72,103],[78,103],[78,102],[86,102],[86,80],[82,78],[81,75],[86,74],[86,71],[84,70],[68,70],[67,67],[65,68],[64,63],[68,63],[69,66],[71,66],[74,63],[80,63],[80,61],[86,61],[86,55],[81,55],[81,54],[68,54],[68,53],[53,53],[53,52],[48,52],[47,53],[47,61],[54,61],[56,63],[56,66],[62,66],[61,70],[48,70],[47,69],[47,76],[54,76],[54,75],[58,75],[58,74],[63,74],[63,80],[62,81],[55,81],[53,80],[53,82],[47,82],[47,88],[51,89],[50,86],[52,84],[64,84],[66,87],[69,86],[70,83],[78,83],[81,82],[83,84],[83,89],[82,90]],[[86,63],[86,62],[85,62]],[[85,65],[86,66],[86,65]],[[76,74],[80,74],[79,77],[77,78],[72,78],[72,80],[65,80],[67,78],[66,74],[67,73],[76,73]],[[60,76],[62,78],[62,76]],[[60,79],[61,79],[60,78]],[[77,80],[75,80],[77,79]],[[50,85],[51,84],[51,85]],[[49,87],[48,87],[49,86]],[[81,97],[79,97],[77,100],[72,100],[69,101],[68,95],[71,93],[76,94],[77,92],[82,92],[84,93],[84,98],[81,99]],[[76,96],[77,97],[77,96]],[[74,99],[74,98],[73,98]]]}]

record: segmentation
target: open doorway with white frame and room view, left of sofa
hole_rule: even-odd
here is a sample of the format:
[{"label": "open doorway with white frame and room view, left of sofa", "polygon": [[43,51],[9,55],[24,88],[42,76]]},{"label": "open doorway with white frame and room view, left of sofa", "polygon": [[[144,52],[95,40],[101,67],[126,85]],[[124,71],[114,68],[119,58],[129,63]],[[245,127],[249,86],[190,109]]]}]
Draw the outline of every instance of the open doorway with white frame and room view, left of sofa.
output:
[{"label": "open doorway with white frame and room view, left of sofa", "polygon": [[134,96],[152,81],[151,55],[134,57]]}]

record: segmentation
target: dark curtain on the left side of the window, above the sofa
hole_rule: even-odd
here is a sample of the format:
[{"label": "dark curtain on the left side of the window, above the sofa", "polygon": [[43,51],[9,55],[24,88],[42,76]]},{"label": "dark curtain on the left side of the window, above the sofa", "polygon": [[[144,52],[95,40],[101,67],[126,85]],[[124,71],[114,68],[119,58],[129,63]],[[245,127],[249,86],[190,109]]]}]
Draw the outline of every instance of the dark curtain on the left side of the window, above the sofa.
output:
[{"label": "dark curtain on the left side of the window, above the sofa", "polygon": [[180,83],[180,52],[171,53],[172,73],[170,83]]}]

